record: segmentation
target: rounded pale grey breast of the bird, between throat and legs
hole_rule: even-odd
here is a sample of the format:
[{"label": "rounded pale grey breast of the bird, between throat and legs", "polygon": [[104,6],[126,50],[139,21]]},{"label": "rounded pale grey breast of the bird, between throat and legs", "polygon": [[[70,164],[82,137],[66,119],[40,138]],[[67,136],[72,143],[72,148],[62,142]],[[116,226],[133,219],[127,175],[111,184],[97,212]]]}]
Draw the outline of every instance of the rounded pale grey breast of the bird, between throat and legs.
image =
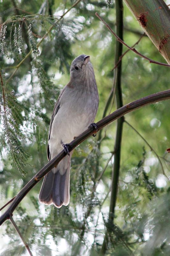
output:
[{"label": "rounded pale grey breast of the bird, between throat and legs", "polygon": [[63,96],[52,124],[50,138],[69,143],[94,121],[98,98],[94,94],[82,92],[67,93]]}]

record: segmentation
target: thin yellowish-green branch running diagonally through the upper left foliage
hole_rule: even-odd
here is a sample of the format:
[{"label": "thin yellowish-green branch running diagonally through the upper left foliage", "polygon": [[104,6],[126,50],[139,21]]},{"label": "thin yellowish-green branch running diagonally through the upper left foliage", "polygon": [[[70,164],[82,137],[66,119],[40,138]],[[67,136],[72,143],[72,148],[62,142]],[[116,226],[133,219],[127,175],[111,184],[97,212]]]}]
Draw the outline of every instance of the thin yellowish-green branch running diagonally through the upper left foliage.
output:
[{"label": "thin yellowish-green branch running diagonally through the upper left foliage", "polygon": [[[58,19],[56,22],[59,22],[61,19],[63,19],[63,17],[70,12],[70,10],[72,8],[74,8],[81,0],[78,0],[76,3],[74,3],[66,12],[63,13],[63,15],[60,17],[60,19]],[[52,30],[52,28],[54,27],[54,25],[51,25],[51,27],[49,28],[48,32],[45,33],[45,35],[42,37],[42,39],[40,40],[40,42],[36,45],[36,47],[38,48],[40,46],[40,44],[42,43],[42,41],[44,40],[44,38],[46,36],[48,36],[48,33]],[[17,72],[18,68],[21,66],[21,64],[30,56],[30,54],[33,52],[33,49],[31,49],[25,56],[24,59],[22,59],[18,65],[16,66],[16,69],[14,70],[14,72],[11,74],[11,76],[7,79],[6,84],[11,80],[11,78],[15,75],[15,73]]]}]

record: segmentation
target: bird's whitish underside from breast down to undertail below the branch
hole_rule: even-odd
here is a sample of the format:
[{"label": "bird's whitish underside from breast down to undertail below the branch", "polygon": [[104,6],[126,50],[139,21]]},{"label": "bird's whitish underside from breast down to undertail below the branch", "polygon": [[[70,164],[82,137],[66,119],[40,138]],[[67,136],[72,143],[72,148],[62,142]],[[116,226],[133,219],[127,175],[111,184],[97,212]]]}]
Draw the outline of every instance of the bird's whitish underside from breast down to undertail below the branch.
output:
[{"label": "bird's whitish underside from breast down to undertail below the branch", "polygon": [[[71,94],[75,93],[77,97],[72,97]],[[92,99],[94,95],[92,96],[91,93],[87,92],[86,97],[82,100],[81,94],[81,91],[75,92],[73,89],[66,88],[60,98],[60,108],[54,117],[48,141],[51,159],[63,149],[62,143],[70,143],[74,137],[84,132],[94,121],[95,109],[97,109],[97,102]],[[94,102],[93,105],[92,101]],[[66,156],[64,161],[62,160],[58,164],[58,169],[66,170],[69,162],[69,156]],[[57,169],[53,169],[53,172],[56,171]]]}]

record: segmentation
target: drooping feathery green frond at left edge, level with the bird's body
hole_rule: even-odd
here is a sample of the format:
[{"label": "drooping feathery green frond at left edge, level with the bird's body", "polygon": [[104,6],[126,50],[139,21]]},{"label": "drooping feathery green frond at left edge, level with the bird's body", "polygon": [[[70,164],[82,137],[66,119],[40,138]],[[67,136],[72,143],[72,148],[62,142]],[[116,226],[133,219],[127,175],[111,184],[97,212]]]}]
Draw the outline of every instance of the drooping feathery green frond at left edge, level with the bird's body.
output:
[{"label": "drooping feathery green frond at left edge, level with the bird's body", "polygon": [[[26,172],[23,166],[29,158],[29,154],[21,145],[20,140],[25,140],[25,135],[21,130],[23,126],[24,117],[22,116],[23,108],[18,102],[14,92],[9,92],[3,88],[3,105],[1,104],[1,118],[4,127],[4,132],[1,136],[4,148],[8,148],[11,154],[13,163],[21,173],[25,176]],[[5,93],[4,93],[5,92]],[[1,102],[2,103],[2,102]]]}]

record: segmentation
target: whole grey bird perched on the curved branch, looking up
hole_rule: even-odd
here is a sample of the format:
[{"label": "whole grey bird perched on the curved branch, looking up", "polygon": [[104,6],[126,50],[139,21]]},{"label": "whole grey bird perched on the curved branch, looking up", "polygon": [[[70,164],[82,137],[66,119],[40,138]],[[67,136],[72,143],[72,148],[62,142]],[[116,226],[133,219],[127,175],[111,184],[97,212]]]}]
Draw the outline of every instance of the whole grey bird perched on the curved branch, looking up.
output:
[{"label": "whole grey bird perched on the curved branch, looking up", "polygon": [[[90,56],[80,55],[70,67],[70,82],[61,91],[49,126],[47,156],[50,161],[65,144],[71,142],[93,123],[99,95]],[[95,124],[92,124],[95,127]],[[45,175],[39,200],[57,208],[70,202],[70,156]]]}]

